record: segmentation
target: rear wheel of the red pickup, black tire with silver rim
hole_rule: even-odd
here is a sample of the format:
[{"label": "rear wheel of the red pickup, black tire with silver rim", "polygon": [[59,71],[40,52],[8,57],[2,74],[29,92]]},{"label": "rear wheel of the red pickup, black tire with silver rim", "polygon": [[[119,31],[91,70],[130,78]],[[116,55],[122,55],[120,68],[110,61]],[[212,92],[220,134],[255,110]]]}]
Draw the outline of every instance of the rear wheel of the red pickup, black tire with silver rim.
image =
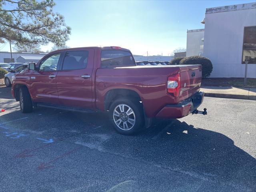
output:
[{"label": "rear wheel of the red pickup, black tire with silver rim", "polygon": [[[124,106],[124,111],[127,109],[127,113],[120,112],[119,106],[121,106],[121,105]],[[129,110],[129,107],[132,110]],[[118,112],[120,112],[119,116],[114,115],[115,109],[118,110]],[[132,114],[130,114],[129,112],[130,113],[132,112]],[[120,118],[121,113],[124,113],[126,120],[124,120],[124,121],[121,120],[121,118]],[[130,115],[127,116],[127,114],[130,114]],[[137,102],[130,101],[126,98],[117,99],[111,104],[110,109],[109,109],[109,115],[110,115],[110,120],[111,120],[114,128],[120,134],[132,135],[132,134],[135,134],[136,132],[142,130],[142,128],[144,127],[144,112],[143,112],[142,104],[139,101],[137,101]],[[122,116],[122,114],[121,114],[121,117],[123,119],[125,119],[124,116]],[[120,122],[119,126],[116,124],[115,118],[120,119],[120,121],[118,121],[118,123]],[[127,118],[128,118],[128,120],[127,120]],[[133,120],[133,118],[134,118],[134,120]],[[130,120],[134,121],[134,124],[130,123],[129,122]],[[126,125],[124,125],[124,124],[126,124]],[[130,126],[130,128],[129,128],[129,126]],[[126,130],[124,130],[124,129],[126,129]]]}]

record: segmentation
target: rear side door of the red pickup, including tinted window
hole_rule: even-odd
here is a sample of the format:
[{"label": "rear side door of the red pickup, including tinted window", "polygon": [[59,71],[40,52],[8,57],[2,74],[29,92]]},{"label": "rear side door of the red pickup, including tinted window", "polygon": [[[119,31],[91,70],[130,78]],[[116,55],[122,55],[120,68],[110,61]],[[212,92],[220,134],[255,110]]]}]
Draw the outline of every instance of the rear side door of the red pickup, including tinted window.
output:
[{"label": "rear side door of the red pickup, including tinted window", "polygon": [[60,104],[92,108],[93,62],[93,49],[65,52],[56,84]]}]

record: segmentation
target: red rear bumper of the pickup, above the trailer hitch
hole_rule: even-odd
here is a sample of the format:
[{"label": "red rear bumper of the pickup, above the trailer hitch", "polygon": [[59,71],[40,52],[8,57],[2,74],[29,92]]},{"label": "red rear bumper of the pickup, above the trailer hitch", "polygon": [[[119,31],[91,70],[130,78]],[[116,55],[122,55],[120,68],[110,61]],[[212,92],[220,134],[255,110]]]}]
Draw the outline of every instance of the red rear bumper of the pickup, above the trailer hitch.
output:
[{"label": "red rear bumper of the pickup, above the trailer hitch", "polygon": [[196,108],[198,108],[204,100],[204,92],[197,92],[190,98],[175,104],[167,105],[158,114],[156,118],[170,118],[178,119],[192,113]]}]

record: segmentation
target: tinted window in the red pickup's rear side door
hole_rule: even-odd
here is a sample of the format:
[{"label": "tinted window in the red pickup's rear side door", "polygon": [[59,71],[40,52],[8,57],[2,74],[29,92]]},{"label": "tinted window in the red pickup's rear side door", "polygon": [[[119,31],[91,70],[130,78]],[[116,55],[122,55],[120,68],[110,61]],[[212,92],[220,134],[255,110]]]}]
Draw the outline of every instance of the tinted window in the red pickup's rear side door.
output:
[{"label": "tinted window in the red pickup's rear side door", "polygon": [[88,51],[67,51],[62,70],[75,70],[87,67]]}]

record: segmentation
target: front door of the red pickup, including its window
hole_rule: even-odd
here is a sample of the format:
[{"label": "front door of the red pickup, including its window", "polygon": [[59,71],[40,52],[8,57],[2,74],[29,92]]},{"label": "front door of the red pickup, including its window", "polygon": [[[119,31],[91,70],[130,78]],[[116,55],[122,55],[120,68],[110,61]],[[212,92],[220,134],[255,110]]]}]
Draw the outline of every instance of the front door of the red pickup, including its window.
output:
[{"label": "front door of the red pickup, including its window", "polygon": [[31,74],[30,93],[34,102],[58,104],[56,76],[62,54],[57,52],[44,58],[39,64],[39,70]]}]

